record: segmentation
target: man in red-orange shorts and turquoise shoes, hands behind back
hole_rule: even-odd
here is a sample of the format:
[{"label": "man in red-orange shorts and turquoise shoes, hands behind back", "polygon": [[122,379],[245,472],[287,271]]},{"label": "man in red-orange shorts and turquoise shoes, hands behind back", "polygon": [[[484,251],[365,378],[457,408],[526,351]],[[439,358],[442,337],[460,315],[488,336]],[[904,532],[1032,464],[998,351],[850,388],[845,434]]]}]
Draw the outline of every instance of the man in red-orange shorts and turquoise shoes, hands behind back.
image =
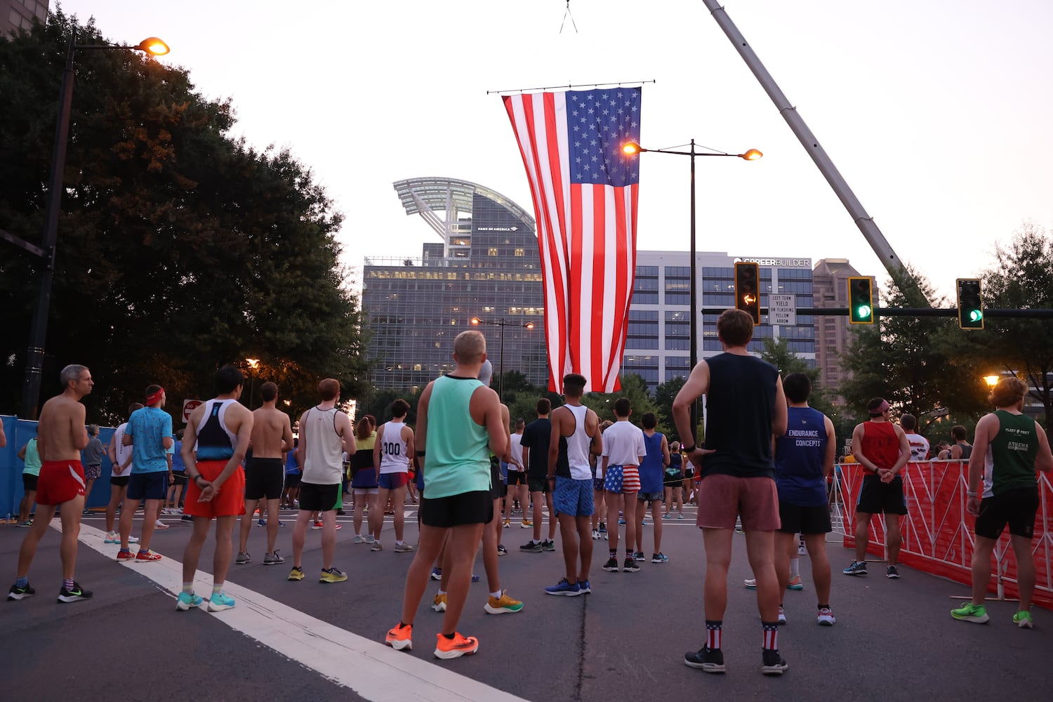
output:
[{"label": "man in red-orange shorts and turquoise shoes, hands behind back", "polygon": [[194,574],[214,517],[216,553],[208,611],[234,606],[234,598],[223,591],[223,583],[231,567],[234,525],[238,515],[245,510],[245,474],[241,462],[253,433],[253,413],[238,402],[244,382],[240,370],[224,365],[216,372],[216,397],[199,405],[186,422],[182,447],[187,481],[183,514],[194,518],[194,531],[183,550],[183,588],[176,601],[176,608],[184,611],[203,602],[194,594]]}]

